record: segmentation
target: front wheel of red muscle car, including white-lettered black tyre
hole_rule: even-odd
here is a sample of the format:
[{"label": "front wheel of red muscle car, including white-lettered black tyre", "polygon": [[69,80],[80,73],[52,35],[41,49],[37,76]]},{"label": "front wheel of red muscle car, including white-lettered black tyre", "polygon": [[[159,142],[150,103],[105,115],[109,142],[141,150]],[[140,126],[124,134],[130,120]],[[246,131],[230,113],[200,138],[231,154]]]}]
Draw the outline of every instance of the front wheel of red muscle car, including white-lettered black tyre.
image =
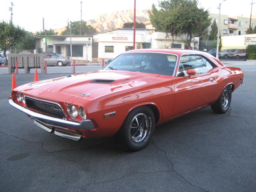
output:
[{"label": "front wheel of red muscle car, including white-lettered black tyre", "polygon": [[150,142],[155,129],[155,117],[146,106],[132,110],[124,120],[115,140],[126,150],[138,151]]}]

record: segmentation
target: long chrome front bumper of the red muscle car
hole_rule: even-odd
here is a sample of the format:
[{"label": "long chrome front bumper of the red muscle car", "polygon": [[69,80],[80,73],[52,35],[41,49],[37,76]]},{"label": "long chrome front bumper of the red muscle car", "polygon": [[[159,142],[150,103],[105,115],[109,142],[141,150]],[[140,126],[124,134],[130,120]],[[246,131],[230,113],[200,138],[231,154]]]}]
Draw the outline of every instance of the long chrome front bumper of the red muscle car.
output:
[{"label": "long chrome front bumper of the red muscle car", "polygon": [[24,107],[16,104],[15,102],[13,102],[12,99],[9,99],[9,103],[12,106],[14,106],[15,108],[17,108],[18,110],[27,114],[28,116],[34,118],[35,120],[39,120],[48,126],[56,126],[56,127],[60,127],[60,128],[66,128],[66,129],[75,128],[75,129],[82,129],[82,130],[89,130],[89,129],[94,128],[94,125],[92,124],[91,120],[84,120],[81,122],[73,122],[73,121],[55,118],[55,117],[51,117],[51,116],[47,116],[44,114],[34,112],[32,110],[29,110],[27,108],[24,108]]}]

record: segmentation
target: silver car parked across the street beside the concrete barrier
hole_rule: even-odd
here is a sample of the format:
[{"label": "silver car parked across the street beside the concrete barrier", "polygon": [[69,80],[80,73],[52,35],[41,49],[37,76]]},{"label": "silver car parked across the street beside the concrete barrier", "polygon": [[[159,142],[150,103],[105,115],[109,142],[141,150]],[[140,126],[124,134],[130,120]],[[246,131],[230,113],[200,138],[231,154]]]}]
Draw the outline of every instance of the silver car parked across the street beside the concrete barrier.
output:
[{"label": "silver car parked across the street beside the concrete barrier", "polygon": [[66,66],[67,64],[70,64],[70,58],[60,54],[48,54],[44,56],[44,60],[47,61],[47,65],[49,66],[56,64],[58,66]]}]

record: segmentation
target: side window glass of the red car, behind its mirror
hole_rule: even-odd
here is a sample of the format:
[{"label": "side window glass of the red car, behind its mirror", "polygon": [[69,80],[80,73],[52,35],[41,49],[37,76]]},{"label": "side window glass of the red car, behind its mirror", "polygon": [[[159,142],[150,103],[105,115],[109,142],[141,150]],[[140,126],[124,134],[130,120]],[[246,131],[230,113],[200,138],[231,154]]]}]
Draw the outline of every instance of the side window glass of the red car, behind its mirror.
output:
[{"label": "side window glass of the red car, behind its mirror", "polygon": [[189,69],[194,69],[196,74],[203,74],[213,68],[212,64],[200,55],[184,55],[180,58],[178,68],[178,77],[188,76],[186,73]]}]

